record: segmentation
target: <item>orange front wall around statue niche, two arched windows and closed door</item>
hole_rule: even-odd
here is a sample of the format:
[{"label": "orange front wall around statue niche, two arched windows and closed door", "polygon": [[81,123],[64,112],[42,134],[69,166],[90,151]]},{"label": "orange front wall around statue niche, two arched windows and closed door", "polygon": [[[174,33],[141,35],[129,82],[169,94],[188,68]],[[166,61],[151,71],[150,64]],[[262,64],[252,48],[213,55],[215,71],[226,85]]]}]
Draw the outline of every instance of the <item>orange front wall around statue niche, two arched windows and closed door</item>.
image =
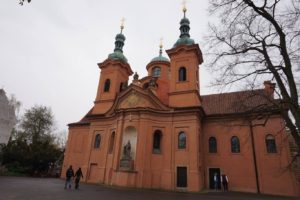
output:
[{"label": "orange front wall around statue niche, two arched windows and closed door", "polygon": [[[117,159],[113,170],[110,169],[110,164],[106,165],[105,177],[107,180],[108,177],[111,177],[111,181],[107,181],[107,183],[120,186],[176,189],[176,167],[186,166],[188,168],[187,190],[199,191],[199,188],[203,187],[199,185],[201,181],[198,172],[199,121],[196,116],[190,115],[175,118],[144,113],[126,114],[123,118],[124,123],[121,122],[122,120],[119,122],[123,123],[122,128],[117,128],[116,131],[119,135],[119,141],[116,141],[116,150],[113,156],[119,159]],[[135,127],[137,130],[136,155],[132,171],[123,171],[119,168],[123,149],[122,134],[127,127]],[[162,132],[160,154],[153,153],[155,130]],[[179,131],[185,131],[187,134],[186,150],[177,149]],[[107,163],[111,162],[110,159],[112,159],[111,156],[108,156]]]}]

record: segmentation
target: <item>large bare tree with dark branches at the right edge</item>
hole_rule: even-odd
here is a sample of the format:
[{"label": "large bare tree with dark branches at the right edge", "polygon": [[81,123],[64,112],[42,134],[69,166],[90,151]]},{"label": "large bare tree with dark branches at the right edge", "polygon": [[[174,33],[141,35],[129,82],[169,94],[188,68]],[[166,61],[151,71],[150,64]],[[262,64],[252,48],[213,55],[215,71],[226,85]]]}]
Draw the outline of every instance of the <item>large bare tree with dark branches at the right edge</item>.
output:
[{"label": "large bare tree with dark branches at the right edge", "polygon": [[220,19],[206,41],[215,84],[253,88],[275,80],[274,104],[300,155],[300,0],[210,0],[210,13]]}]

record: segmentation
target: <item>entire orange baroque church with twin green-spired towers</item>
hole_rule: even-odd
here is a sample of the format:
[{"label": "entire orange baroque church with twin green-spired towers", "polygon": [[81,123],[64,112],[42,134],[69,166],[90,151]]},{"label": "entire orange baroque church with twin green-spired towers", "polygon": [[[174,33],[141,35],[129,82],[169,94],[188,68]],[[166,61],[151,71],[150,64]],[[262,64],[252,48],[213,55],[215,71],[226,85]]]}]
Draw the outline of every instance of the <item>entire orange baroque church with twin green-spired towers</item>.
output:
[{"label": "entire orange baroque church with twin green-spired towers", "polygon": [[201,95],[203,57],[186,9],[180,37],[166,57],[160,46],[146,77],[133,75],[122,30],[114,52],[98,63],[94,106],[69,124],[63,178],[72,165],[88,183],[200,192],[226,174],[230,191],[300,195],[285,122],[270,103],[275,84]]}]

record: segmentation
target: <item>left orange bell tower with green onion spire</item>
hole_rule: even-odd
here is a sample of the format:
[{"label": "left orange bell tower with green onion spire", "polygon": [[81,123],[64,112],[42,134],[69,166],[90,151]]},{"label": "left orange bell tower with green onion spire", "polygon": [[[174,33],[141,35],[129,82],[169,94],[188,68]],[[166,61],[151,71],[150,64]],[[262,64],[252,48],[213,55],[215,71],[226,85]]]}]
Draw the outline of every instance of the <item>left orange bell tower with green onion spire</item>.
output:
[{"label": "left orange bell tower with green onion spire", "polygon": [[109,54],[104,62],[98,63],[101,73],[93,114],[107,112],[113,105],[117,94],[127,86],[129,76],[133,74],[127,58],[123,54],[126,39],[123,29],[124,20],[122,19],[121,32],[116,35],[114,52]]}]

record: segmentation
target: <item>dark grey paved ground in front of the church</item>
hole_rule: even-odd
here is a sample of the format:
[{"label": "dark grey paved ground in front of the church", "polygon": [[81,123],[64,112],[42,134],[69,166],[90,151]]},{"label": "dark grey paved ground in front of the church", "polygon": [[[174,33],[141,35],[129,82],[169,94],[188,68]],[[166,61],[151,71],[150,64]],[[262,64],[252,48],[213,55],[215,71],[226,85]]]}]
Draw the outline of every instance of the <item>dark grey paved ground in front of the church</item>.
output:
[{"label": "dark grey paved ground in front of the church", "polygon": [[0,177],[0,200],[291,200],[277,196],[237,193],[182,193],[81,184],[65,190],[64,181],[50,178]]}]

